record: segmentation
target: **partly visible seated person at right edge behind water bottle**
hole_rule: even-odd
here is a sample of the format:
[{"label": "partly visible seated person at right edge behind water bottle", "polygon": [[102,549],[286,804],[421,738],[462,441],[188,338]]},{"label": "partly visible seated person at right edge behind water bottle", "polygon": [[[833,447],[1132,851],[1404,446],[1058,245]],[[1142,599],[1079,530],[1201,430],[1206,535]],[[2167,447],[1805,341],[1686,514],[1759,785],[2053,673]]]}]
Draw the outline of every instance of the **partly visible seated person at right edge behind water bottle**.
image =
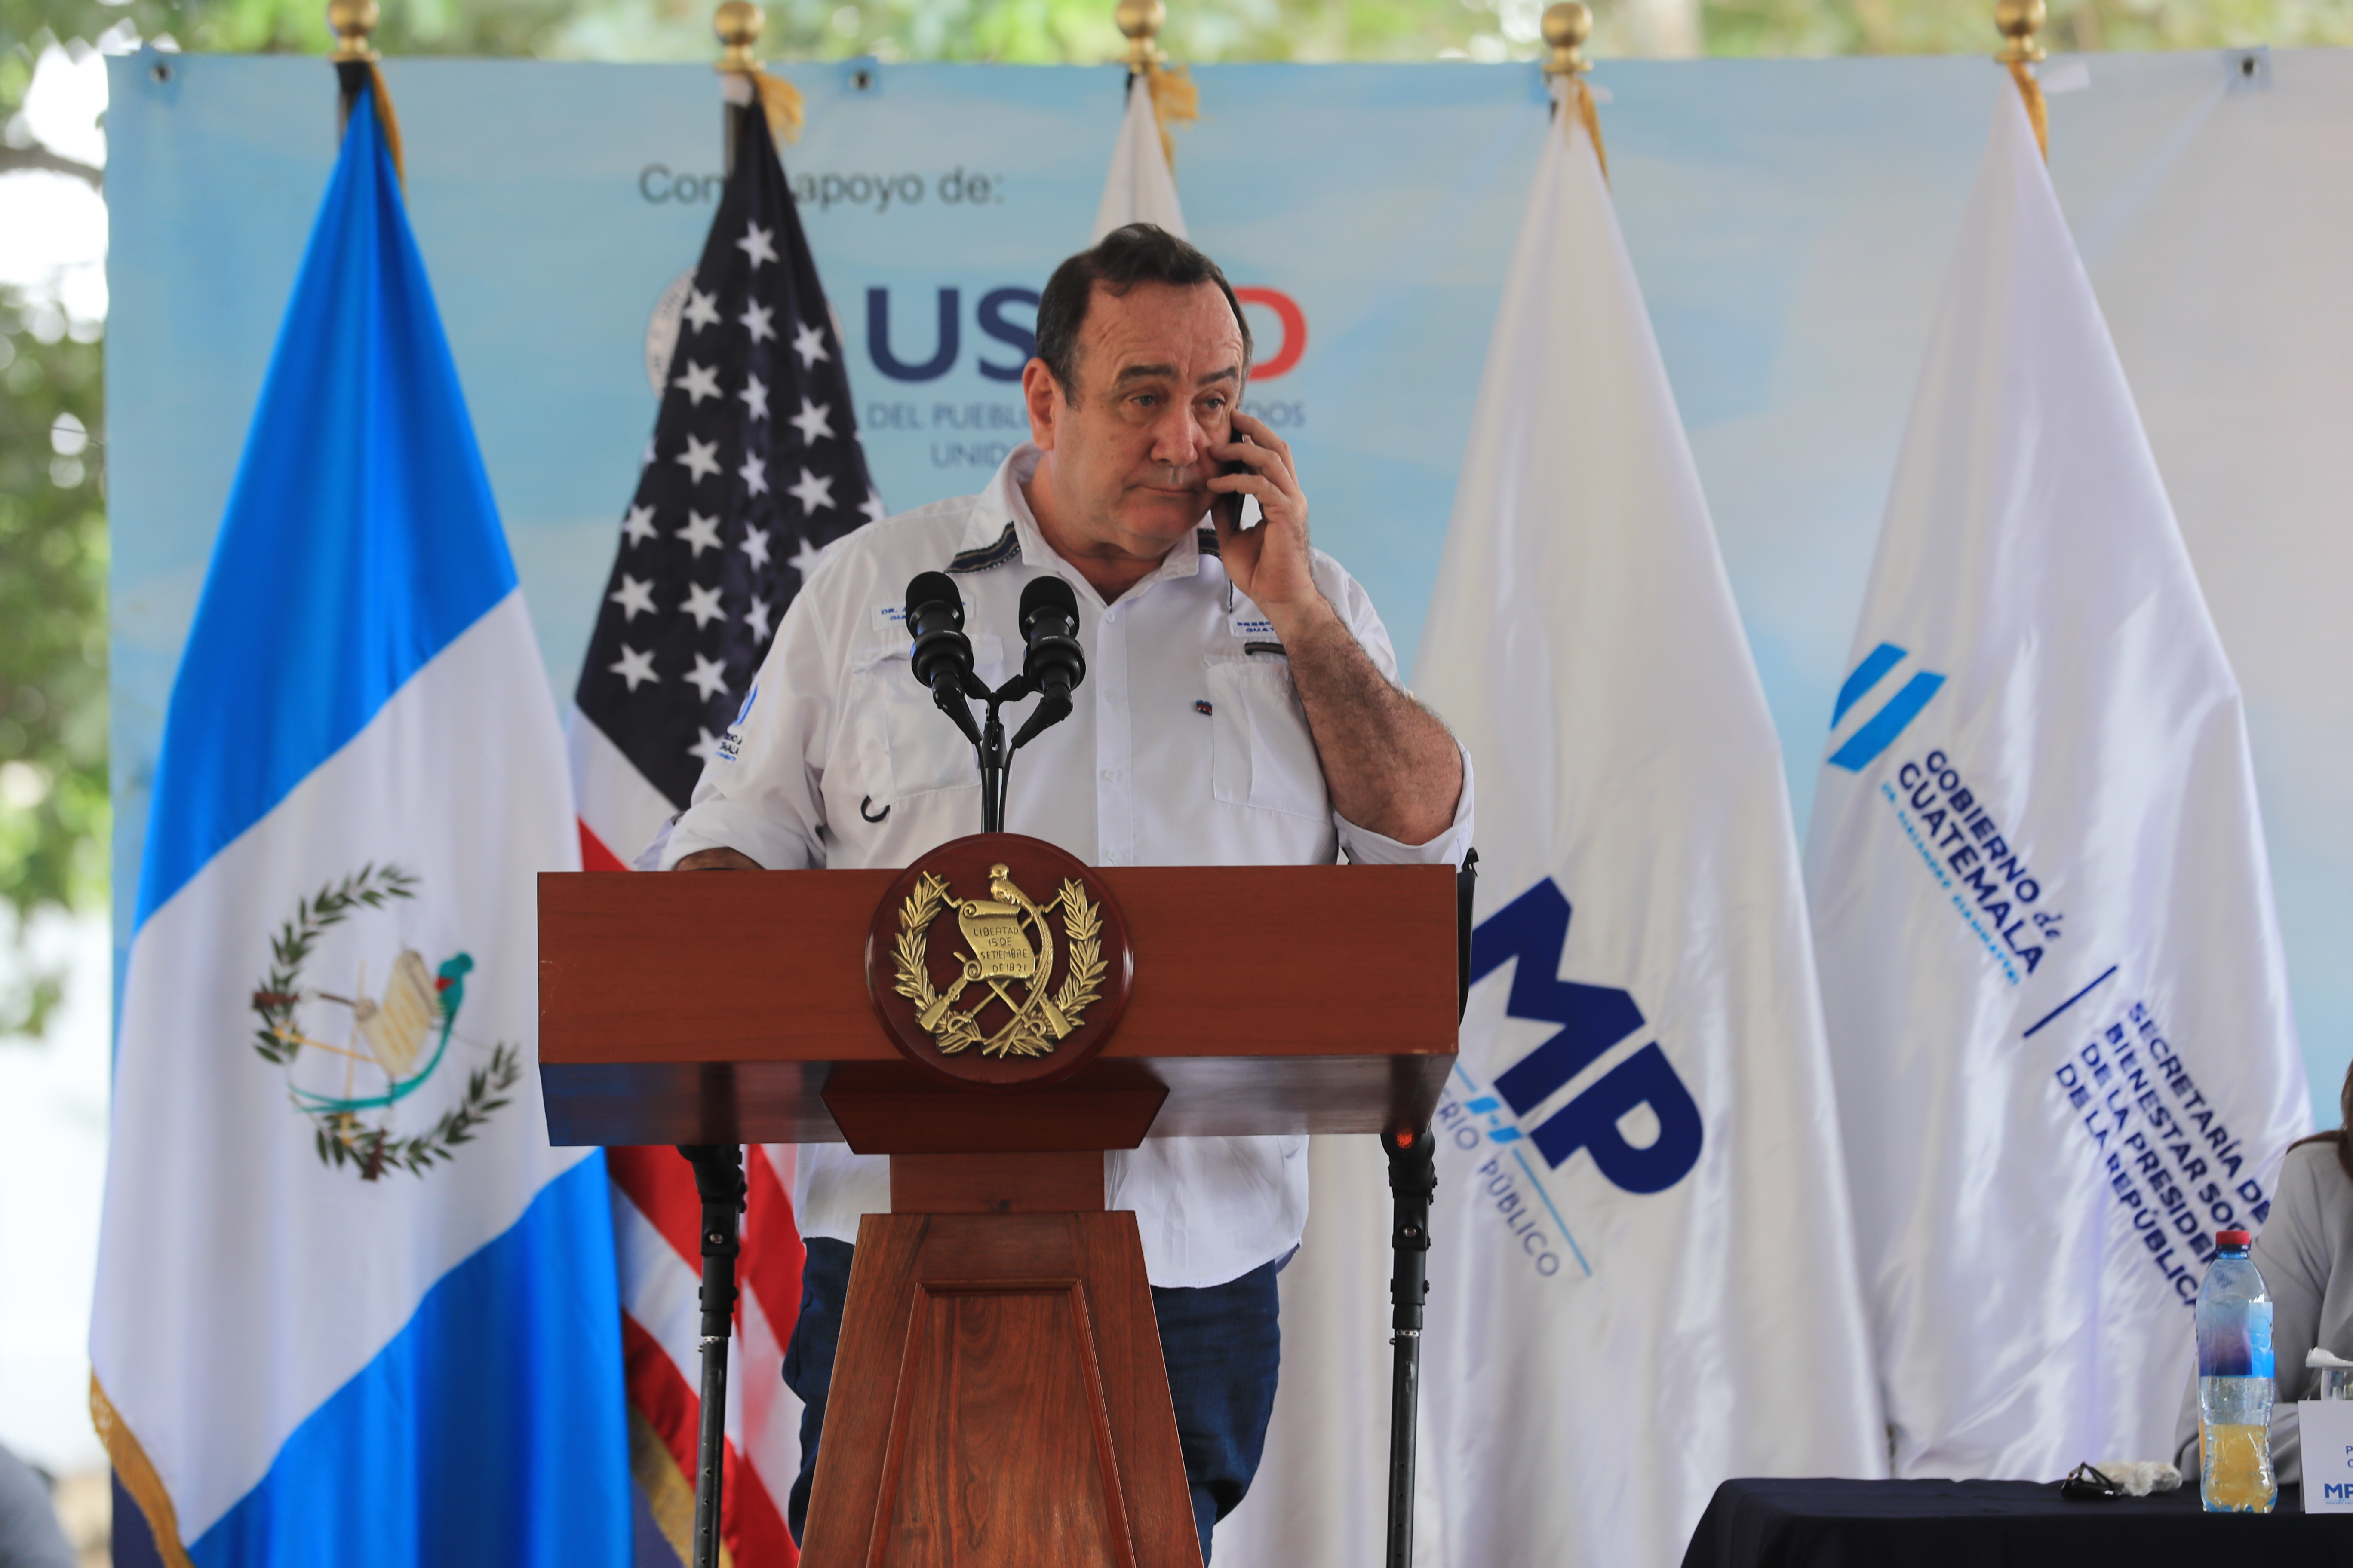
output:
[{"label": "partly visible seated person at right edge behind water bottle", "polygon": [[[2271,1291],[2271,1469],[2280,1486],[2301,1481],[2297,1401],[2320,1396],[2320,1373],[2304,1366],[2315,1345],[2353,1361],[2353,1067],[2337,1095],[2344,1126],[2287,1147],[2271,1220],[2254,1239],[2254,1267]],[[2174,1465],[2198,1479],[2198,1368],[2174,1427]]]}]

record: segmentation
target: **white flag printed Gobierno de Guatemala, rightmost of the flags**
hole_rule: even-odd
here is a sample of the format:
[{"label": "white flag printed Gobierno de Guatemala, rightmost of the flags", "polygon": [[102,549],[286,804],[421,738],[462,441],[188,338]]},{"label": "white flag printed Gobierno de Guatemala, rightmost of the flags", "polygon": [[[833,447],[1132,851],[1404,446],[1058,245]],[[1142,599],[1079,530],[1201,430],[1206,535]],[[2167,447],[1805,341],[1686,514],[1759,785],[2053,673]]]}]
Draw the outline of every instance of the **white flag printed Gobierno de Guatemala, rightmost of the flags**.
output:
[{"label": "white flag printed Gobierno de Guatemala, rightmost of the flags", "polygon": [[1897,1474],[2169,1453],[2308,1100],[2238,684],[2007,85],[1807,884]]}]

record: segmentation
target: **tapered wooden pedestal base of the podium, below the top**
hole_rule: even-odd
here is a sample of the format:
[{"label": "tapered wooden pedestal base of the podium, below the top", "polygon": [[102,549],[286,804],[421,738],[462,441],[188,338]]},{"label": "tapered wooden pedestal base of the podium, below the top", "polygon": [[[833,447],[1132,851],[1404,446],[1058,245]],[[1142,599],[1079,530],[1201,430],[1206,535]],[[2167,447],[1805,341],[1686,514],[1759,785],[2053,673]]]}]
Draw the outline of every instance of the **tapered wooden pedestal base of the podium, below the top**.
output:
[{"label": "tapered wooden pedestal base of the podium, below the top", "polygon": [[859,1222],[807,1568],[1200,1568],[1144,1244],[1092,1171],[1094,1213],[1021,1213],[1071,1185],[1028,1173]]}]

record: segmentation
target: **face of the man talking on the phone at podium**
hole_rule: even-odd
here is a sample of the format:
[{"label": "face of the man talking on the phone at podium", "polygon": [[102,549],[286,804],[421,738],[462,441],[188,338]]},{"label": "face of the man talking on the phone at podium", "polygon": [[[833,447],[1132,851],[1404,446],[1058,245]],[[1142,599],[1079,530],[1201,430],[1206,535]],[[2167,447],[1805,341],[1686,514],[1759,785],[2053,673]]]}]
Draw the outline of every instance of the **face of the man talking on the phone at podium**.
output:
[{"label": "face of the man talking on the phone at podium", "polygon": [[1031,430],[1068,543],[1160,559],[1209,510],[1209,447],[1233,440],[1242,329],[1214,282],[1094,292],[1068,393],[1031,362]]}]

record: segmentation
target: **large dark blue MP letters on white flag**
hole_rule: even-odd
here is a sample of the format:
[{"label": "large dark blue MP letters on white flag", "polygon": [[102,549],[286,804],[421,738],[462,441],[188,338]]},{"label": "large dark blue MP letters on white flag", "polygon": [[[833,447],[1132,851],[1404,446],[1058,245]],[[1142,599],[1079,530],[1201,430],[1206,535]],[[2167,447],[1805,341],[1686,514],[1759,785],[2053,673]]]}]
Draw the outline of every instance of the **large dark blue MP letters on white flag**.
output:
[{"label": "large dark blue MP letters on white flag", "polygon": [[[1471,983],[1478,985],[1504,964],[1518,961],[1504,1011],[1511,1018],[1560,1025],[1558,1034],[1494,1079],[1494,1093],[1515,1117],[1541,1107],[1605,1051],[1642,1027],[1642,1009],[1626,992],[1560,978],[1567,940],[1569,900],[1551,877],[1489,914],[1471,936]],[[1480,1100],[1466,1110],[1485,1112],[1489,1105],[1492,1100]],[[1649,1107],[1659,1131],[1638,1145],[1626,1121],[1642,1107]],[[1489,1138],[1518,1143],[1522,1133],[1497,1128]],[[1659,1041],[1649,1041],[1525,1138],[1548,1166],[1558,1168],[1569,1154],[1586,1150],[1612,1185],[1626,1192],[1666,1192],[1699,1164],[1699,1105]]]}]

